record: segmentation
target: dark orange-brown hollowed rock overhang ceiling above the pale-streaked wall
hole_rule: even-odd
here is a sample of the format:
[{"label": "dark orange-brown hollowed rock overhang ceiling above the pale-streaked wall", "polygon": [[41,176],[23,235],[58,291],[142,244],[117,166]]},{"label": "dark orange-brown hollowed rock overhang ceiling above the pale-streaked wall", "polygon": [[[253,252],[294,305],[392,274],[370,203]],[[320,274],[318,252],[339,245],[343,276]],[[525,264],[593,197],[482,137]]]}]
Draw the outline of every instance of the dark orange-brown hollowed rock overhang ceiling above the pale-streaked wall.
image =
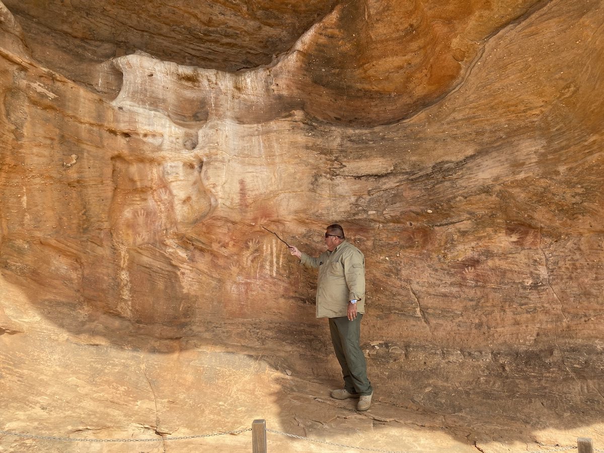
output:
[{"label": "dark orange-brown hollowed rock overhang ceiling above the pale-streaked wall", "polygon": [[[451,92],[490,36],[545,3],[48,1],[40,8],[33,1],[8,1],[7,6],[19,14],[36,57],[76,80],[91,83],[94,77],[70,69],[69,60],[79,60],[72,66],[81,67],[135,51],[226,72],[274,67],[275,80],[267,83],[283,97],[282,109],[301,105],[323,121],[374,125],[409,118]],[[49,40],[63,51],[62,58],[53,61],[44,51]]]}]

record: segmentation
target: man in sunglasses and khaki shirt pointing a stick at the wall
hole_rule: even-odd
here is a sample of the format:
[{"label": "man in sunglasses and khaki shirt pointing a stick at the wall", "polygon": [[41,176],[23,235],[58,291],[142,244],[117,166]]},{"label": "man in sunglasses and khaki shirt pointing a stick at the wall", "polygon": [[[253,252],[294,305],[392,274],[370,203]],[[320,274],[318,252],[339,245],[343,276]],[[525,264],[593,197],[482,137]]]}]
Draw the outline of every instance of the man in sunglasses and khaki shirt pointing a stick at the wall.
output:
[{"label": "man in sunglasses and khaki shirt pointing a stick at the wall", "polygon": [[318,268],[316,317],[329,318],[333,350],[342,367],[344,388],[332,391],[336,399],[359,398],[357,410],[371,406],[373,389],[367,379],[367,363],[361,350],[361,320],[365,313],[365,257],[347,242],[339,225],[327,226],[327,250],[318,258],[296,247],[289,252],[309,268]]}]

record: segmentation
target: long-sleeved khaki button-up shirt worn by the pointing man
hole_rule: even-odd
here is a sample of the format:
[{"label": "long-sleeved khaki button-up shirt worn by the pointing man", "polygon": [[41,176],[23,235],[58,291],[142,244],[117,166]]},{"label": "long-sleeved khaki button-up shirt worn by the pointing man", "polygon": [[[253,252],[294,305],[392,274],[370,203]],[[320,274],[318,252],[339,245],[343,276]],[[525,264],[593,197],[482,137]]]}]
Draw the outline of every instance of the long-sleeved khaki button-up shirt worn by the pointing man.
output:
[{"label": "long-sleeved khaki button-up shirt worn by the pointing man", "polygon": [[365,256],[344,240],[333,252],[324,251],[318,258],[303,253],[300,263],[318,268],[316,317],[347,316],[348,303],[356,299],[356,310],[365,313]]}]

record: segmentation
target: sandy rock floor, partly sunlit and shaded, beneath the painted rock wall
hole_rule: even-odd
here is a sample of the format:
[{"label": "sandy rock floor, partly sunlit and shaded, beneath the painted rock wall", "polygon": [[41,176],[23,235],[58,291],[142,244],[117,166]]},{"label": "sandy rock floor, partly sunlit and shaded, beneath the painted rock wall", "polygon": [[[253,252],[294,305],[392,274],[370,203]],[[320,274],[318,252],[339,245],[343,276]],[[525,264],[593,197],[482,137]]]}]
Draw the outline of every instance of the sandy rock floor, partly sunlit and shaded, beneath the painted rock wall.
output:
[{"label": "sandy rock floor, partly sunlit and shaded, beneath the painted rock wall", "polygon": [[[268,451],[545,452],[576,445],[577,437],[604,446],[602,397],[594,401],[594,381],[577,380],[576,391],[564,391],[535,377],[531,395],[527,379],[518,380],[518,391],[510,386],[506,398],[496,392],[505,382],[473,391],[462,388],[467,384],[461,374],[455,378],[455,370],[449,370],[451,382],[442,382],[429,375],[432,367],[397,394],[386,393],[376,376],[373,405],[358,413],[353,400],[329,397],[339,385],[333,358],[315,369],[289,365],[292,370],[286,366],[300,357],[279,355],[273,347],[237,351],[201,335],[174,339],[171,350],[164,344],[161,351],[153,341],[147,348],[118,346],[48,323],[5,281],[0,294],[4,321],[10,315],[16,328],[0,336],[4,431],[94,440],[161,437],[85,443],[2,434],[2,452],[248,452],[249,431],[169,438],[247,430],[255,419],[278,431],[268,432]],[[327,335],[325,326],[317,335]],[[445,358],[432,360],[452,367]],[[370,371],[372,361],[368,354]],[[408,364],[406,377],[413,379],[415,365]],[[323,375],[316,374],[319,369]],[[583,405],[573,404],[573,392]]]}]

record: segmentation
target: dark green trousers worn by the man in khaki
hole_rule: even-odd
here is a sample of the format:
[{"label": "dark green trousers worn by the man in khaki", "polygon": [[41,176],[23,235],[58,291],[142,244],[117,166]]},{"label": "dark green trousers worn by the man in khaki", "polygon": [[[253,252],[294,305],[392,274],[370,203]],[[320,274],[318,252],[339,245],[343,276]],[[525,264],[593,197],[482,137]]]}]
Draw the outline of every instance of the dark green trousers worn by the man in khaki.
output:
[{"label": "dark green trousers worn by the man in khaki", "polygon": [[367,362],[361,350],[361,319],[349,321],[345,316],[329,319],[333,350],[344,376],[344,388],[361,395],[371,394],[373,389],[367,378]]}]

